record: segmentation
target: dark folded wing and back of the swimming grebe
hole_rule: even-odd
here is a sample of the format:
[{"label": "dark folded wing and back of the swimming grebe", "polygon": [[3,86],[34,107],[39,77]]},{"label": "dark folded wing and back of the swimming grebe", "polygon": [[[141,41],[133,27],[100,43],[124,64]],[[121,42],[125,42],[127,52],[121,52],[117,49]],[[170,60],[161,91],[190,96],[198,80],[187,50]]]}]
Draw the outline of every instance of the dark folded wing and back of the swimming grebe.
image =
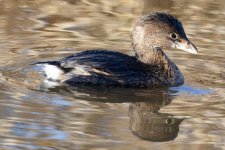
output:
[{"label": "dark folded wing and back of the swimming grebe", "polygon": [[69,85],[92,84],[145,87],[152,82],[149,67],[135,57],[107,50],[89,50],[60,61]]}]

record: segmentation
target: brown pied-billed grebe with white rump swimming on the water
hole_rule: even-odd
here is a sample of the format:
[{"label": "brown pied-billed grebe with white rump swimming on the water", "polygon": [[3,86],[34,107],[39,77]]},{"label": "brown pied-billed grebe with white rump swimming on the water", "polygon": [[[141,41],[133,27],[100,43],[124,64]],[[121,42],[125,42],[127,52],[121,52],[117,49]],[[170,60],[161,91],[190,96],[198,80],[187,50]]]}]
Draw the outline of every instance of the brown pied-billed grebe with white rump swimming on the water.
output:
[{"label": "brown pied-billed grebe with white rump swimming on the water", "polygon": [[36,65],[43,66],[47,80],[59,85],[178,86],[184,82],[183,76],[162,48],[197,53],[181,22],[165,12],[141,17],[133,29],[132,45],[135,56],[108,50],[88,50],[59,61]]}]

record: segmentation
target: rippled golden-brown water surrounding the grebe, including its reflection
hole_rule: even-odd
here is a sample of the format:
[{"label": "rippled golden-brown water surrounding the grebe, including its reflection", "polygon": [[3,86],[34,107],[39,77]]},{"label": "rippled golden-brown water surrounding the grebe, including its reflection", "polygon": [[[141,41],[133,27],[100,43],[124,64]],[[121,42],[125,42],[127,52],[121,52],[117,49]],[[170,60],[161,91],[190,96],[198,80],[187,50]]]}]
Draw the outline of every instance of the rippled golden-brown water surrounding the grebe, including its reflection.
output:
[{"label": "rippled golden-brown water surrounding the grebe, including its reflection", "polygon": [[[175,14],[200,51],[166,50],[180,87],[41,92],[21,71],[85,49],[132,55],[134,23],[156,10]],[[224,0],[1,0],[0,149],[225,149],[224,25]]]}]

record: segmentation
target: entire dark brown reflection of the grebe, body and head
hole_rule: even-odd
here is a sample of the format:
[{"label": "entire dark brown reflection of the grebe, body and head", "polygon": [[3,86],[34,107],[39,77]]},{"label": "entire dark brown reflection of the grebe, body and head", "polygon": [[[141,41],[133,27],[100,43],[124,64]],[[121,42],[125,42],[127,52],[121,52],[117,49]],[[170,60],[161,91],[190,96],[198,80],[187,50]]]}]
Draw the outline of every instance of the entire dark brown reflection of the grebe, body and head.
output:
[{"label": "entire dark brown reflection of the grebe, body and head", "polygon": [[168,88],[132,89],[79,86],[54,89],[63,95],[70,95],[97,102],[130,103],[129,118],[132,133],[144,140],[169,141],[177,137],[183,118],[160,113],[161,107],[171,103],[177,91]]}]

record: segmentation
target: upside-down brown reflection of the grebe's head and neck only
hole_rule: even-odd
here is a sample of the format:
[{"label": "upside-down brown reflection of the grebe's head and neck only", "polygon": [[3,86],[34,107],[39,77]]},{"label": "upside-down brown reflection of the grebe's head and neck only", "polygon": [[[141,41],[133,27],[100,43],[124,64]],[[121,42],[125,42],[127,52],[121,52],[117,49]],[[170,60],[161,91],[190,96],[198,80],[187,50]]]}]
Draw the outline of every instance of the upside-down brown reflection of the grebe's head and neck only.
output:
[{"label": "upside-down brown reflection of the grebe's head and neck only", "polygon": [[159,106],[159,101],[130,104],[130,129],[135,136],[158,142],[173,140],[177,137],[179,125],[183,119],[158,113]]}]

